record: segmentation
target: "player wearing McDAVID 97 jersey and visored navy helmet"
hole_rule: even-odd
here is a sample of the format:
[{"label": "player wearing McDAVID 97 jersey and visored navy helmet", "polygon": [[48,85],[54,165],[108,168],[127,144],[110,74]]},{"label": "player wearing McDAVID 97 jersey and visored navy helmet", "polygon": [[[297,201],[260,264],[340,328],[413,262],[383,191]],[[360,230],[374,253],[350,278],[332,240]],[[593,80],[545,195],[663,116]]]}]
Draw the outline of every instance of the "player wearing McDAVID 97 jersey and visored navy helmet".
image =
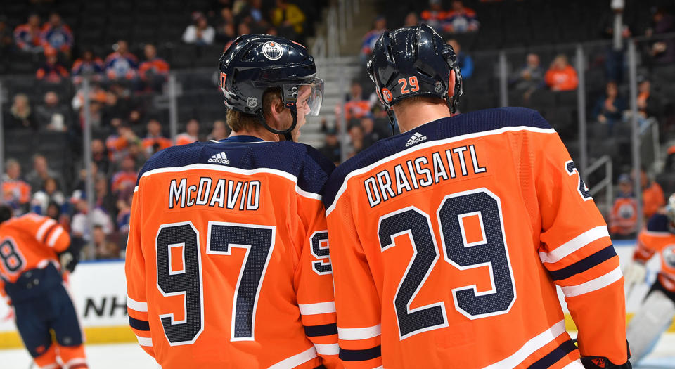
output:
[{"label": "player wearing McDAVID 97 jersey and visored navy helmet", "polygon": [[304,46],[263,34],[233,41],[220,70],[233,133],[162,150],[139,175],[129,324],[165,369],[335,368],[334,166],[293,142],[323,81]]}]

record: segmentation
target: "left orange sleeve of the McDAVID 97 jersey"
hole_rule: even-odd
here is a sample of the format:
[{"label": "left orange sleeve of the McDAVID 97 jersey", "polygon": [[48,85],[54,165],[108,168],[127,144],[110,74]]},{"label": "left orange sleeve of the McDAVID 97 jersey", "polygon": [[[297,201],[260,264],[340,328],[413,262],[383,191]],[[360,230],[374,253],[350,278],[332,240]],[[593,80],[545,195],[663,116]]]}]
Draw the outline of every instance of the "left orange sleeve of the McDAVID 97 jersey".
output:
[{"label": "left orange sleeve of the McDAVID 97 jersey", "polygon": [[[138,189],[138,188],[136,188]],[[146,299],[146,261],[141,249],[141,196],[134,192],[131,200],[131,219],[124,273],[127,276],[127,312],[129,326],[136,335],[141,348],[155,357],[153,338],[148,322],[148,300]]]}]

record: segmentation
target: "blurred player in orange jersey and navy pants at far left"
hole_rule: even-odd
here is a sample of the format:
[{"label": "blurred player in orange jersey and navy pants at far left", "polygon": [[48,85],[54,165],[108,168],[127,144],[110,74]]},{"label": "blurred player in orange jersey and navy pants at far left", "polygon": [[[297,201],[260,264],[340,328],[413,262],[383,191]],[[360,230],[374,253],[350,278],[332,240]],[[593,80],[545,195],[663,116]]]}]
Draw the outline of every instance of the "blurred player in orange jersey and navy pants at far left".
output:
[{"label": "blurred player in orange jersey and navy pants at far left", "polygon": [[38,368],[89,368],[75,306],[61,277],[77,263],[70,236],[46,216],[11,216],[11,208],[0,205],[0,294],[15,311],[26,349]]}]

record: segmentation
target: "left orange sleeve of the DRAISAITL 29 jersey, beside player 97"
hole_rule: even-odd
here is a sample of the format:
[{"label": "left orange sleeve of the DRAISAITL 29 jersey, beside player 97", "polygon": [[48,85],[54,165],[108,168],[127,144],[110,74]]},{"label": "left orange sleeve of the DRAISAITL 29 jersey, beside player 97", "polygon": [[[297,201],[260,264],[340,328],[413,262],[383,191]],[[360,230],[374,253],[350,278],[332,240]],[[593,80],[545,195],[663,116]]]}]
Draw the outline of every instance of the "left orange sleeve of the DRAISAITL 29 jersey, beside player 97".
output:
[{"label": "left orange sleeve of the DRAISAITL 29 jersey, beside player 97", "polygon": [[356,233],[347,193],[340,197],[327,218],[340,361],[345,368],[379,367],[383,365],[380,295]]}]

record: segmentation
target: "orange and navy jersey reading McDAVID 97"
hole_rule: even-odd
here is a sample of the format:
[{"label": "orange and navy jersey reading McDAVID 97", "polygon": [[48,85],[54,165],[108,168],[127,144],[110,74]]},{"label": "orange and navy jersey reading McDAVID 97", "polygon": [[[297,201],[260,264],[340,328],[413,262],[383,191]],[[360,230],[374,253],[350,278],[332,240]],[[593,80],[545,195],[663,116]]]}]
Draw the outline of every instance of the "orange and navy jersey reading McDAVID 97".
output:
[{"label": "orange and navy jersey reading McDAVID 97", "polygon": [[308,150],[211,141],[169,148],[144,167],[127,252],[130,323],[164,368],[321,363],[303,323],[334,323],[334,308],[301,321],[299,304],[333,304],[332,290],[307,282],[314,273],[331,283],[311,271],[322,259],[302,260],[316,226],[305,214],[321,214],[331,168]]}]

